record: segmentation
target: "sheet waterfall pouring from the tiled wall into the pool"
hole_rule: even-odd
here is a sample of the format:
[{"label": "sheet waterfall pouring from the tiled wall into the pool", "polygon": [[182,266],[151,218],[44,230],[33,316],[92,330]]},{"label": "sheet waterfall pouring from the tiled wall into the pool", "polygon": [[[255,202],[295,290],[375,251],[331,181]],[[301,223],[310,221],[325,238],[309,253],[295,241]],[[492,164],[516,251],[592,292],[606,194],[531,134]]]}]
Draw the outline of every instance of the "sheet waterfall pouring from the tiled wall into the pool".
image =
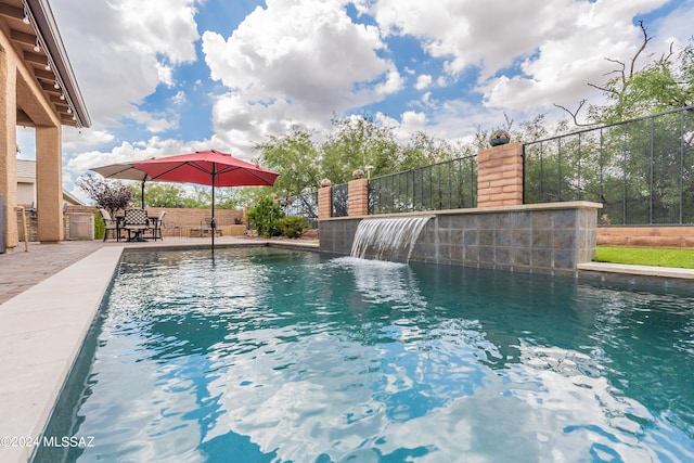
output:
[{"label": "sheet waterfall pouring from the tiled wall into the pool", "polygon": [[[352,257],[387,260],[406,254],[410,260],[420,233],[430,217],[364,219],[359,222],[351,245]],[[373,256],[373,257],[371,257]],[[401,258],[401,257],[400,257]]]}]

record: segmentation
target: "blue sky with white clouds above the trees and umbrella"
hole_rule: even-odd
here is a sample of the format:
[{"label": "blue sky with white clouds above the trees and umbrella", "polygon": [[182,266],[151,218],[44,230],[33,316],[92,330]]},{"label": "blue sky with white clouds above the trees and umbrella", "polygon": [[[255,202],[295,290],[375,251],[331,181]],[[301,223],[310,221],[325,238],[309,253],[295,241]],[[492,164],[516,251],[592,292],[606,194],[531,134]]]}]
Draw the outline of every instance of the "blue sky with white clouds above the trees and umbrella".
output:
[{"label": "blue sky with white clouds above the trees and umbrella", "polygon": [[[90,167],[253,146],[367,114],[407,141],[562,114],[588,82],[693,35],[693,0],[50,0],[92,120],[63,128],[63,183]],[[647,61],[647,56],[641,64]],[[639,64],[639,63],[638,63]],[[33,158],[31,129],[17,129]],[[377,172],[374,172],[377,175]]]}]

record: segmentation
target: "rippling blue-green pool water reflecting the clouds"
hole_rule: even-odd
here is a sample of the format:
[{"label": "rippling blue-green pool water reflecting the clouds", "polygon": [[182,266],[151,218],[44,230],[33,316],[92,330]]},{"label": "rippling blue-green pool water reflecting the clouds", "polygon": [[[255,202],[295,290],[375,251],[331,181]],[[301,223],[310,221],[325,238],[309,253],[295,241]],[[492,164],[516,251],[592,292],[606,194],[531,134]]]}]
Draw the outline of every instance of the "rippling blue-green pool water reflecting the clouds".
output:
[{"label": "rippling blue-green pool water reflecting the clouds", "polygon": [[283,249],[126,254],[35,462],[694,461],[694,298]]}]

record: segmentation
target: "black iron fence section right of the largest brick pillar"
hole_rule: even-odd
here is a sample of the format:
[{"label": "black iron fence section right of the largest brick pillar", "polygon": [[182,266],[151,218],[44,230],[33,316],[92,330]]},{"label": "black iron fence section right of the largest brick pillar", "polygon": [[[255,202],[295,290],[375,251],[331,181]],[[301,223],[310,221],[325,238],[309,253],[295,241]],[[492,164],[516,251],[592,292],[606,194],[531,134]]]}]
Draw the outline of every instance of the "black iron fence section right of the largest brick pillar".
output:
[{"label": "black iron fence section right of the largest brick pillar", "polygon": [[524,202],[603,203],[602,224],[694,223],[694,106],[524,145]]}]

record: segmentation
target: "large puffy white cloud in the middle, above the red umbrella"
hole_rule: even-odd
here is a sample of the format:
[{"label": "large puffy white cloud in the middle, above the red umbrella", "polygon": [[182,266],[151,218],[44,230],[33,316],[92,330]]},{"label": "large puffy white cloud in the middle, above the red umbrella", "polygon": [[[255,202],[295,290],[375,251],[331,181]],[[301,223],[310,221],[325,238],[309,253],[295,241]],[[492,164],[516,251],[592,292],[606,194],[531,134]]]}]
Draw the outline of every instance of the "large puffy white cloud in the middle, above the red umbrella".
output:
[{"label": "large puffy white cloud in the middle, above the red umbrella", "polygon": [[232,90],[215,105],[216,127],[268,126],[274,133],[299,118],[325,119],[381,101],[402,88],[394,63],[376,53],[383,48],[378,30],[354,24],[340,1],[269,0],[228,39],[203,34],[213,79]]}]

